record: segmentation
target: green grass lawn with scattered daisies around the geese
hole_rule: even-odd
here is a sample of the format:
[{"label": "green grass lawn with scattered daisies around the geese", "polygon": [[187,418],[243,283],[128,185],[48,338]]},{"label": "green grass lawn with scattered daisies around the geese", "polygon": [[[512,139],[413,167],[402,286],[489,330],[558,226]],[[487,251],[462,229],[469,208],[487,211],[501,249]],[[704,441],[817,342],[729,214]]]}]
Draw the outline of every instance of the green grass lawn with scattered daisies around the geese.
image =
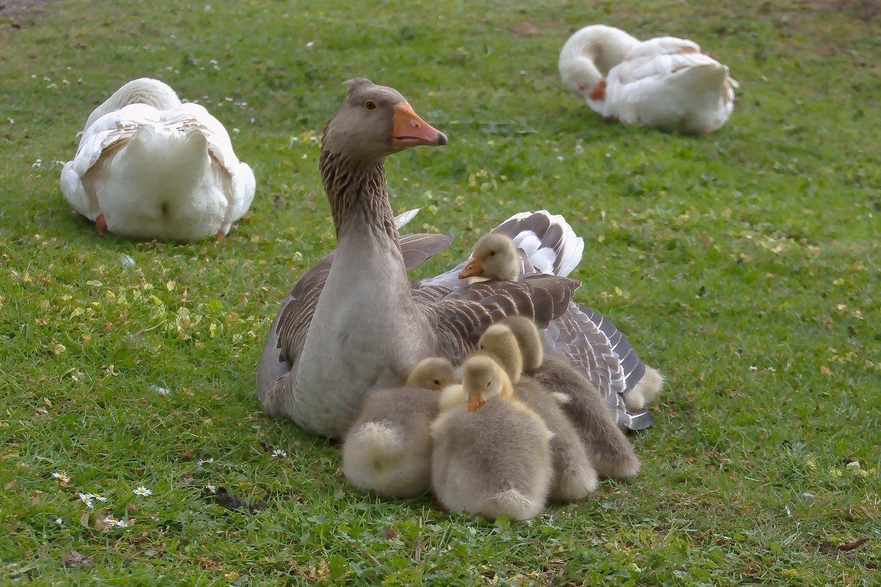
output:
[{"label": "green grass lawn with scattered daisies around the geese", "polygon": [[[877,15],[837,4],[0,12],[0,583],[874,584],[881,38]],[[698,41],[741,83],[729,123],[681,137],[599,120],[556,72],[591,22]],[[258,189],[226,244],[100,238],[63,202],[57,161],[141,76],[238,129]],[[585,237],[578,300],[668,376],[656,426],[633,437],[638,478],[491,524],[362,496],[337,447],[263,417],[270,320],[334,247],[310,139],[356,76],[450,137],[388,162],[396,212],[423,207],[408,230],[456,237],[421,275],[521,210]],[[208,484],[268,508],[223,509]],[[109,499],[89,516],[78,491]],[[102,531],[108,514],[137,522]]]}]

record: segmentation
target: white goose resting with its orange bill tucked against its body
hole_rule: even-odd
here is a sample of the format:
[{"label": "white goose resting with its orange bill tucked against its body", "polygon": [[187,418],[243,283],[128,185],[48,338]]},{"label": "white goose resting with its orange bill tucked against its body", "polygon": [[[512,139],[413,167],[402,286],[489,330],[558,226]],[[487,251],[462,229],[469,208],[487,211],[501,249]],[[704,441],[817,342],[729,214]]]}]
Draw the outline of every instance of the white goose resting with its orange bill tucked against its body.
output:
[{"label": "white goose resting with its orange bill tucked against its body", "polygon": [[640,42],[605,25],[585,26],[569,37],[559,54],[559,74],[563,85],[603,116],[685,133],[722,127],[737,87],[728,67],[701,53],[694,41]]}]

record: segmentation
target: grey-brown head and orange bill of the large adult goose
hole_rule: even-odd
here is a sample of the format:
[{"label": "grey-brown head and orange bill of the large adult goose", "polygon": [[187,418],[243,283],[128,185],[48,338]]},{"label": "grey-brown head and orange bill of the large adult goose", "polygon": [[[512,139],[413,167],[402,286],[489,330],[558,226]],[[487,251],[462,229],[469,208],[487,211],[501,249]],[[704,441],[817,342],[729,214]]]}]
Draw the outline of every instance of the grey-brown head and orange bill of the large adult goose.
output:
[{"label": "grey-brown head and orange bill of the large adult goose", "polygon": [[367,78],[346,84],[349,93],[324,129],[322,152],[369,165],[410,147],[448,144],[447,135],[422,120],[397,90]]}]

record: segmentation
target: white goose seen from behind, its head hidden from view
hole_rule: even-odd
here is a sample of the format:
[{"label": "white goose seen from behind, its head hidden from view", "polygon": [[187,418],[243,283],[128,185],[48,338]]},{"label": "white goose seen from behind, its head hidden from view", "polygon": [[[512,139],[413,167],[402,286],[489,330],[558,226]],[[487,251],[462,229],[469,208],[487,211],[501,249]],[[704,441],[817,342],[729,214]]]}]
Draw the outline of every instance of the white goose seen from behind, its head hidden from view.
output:
[{"label": "white goose seen from behind, its head hidden from view", "polygon": [[223,239],[248,212],[255,180],[208,110],[139,78],[89,116],[61,190],[99,234],[189,241]]}]

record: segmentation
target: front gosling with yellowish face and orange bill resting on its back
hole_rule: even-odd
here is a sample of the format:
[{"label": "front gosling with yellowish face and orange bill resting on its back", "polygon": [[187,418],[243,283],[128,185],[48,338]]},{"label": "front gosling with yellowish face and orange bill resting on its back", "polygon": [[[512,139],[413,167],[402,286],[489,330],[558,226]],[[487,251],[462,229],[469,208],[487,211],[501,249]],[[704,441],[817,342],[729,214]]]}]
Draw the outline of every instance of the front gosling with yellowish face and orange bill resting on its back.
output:
[{"label": "front gosling with yellowish face and orange bill resting on its back", "polygon": [[458,397],[431,425],[438,500],[448,511],[490,518],[537,516],[551,488],[553,433],[489,356],[465,361]]}]

